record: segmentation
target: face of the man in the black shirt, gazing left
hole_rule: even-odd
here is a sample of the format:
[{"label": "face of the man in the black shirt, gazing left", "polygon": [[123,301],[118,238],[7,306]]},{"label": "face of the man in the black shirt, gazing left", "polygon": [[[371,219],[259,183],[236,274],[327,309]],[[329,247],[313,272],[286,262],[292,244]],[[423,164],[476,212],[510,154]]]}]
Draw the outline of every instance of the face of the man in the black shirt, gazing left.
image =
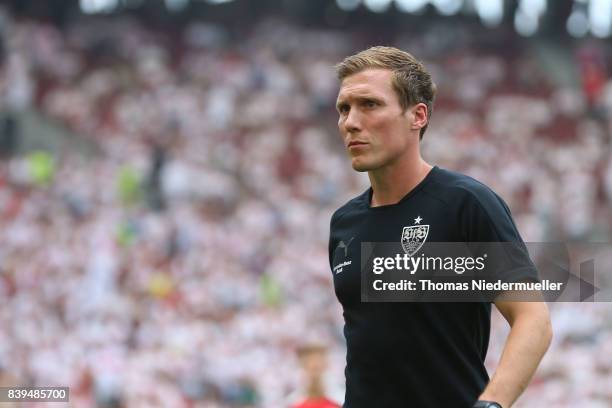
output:
[{"label": "face of the man in the black shirt, gazing left", "polygon": [[338,128],[357,171],[392,165],[414,144],[410,134],[414,115],[399,104],[392,76],[388,69],[366,69],[340,85]]}]

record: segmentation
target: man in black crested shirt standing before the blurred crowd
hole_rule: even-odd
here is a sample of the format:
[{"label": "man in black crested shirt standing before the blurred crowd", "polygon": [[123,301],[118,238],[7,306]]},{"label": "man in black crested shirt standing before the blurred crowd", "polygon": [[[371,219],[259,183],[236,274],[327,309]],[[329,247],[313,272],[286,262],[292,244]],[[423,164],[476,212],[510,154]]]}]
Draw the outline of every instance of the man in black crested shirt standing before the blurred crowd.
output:
[{"label": "man in black crested shirt standing before the blurred crowd", "polygon": [[[398,242],[404,226],[427,224],[429,242],[522,243],[510,211],[483,184],[422,159],[435,86],[412,55],[373,47],[336,70],[340,134],[353,169],[371,183],[331,219],[329,261],[347,341],[344,407],[510,407],[550,344],[545,303],[495,301],[511,331],[489,381],[490,303],[360,297],[361,242]],[[527,264],[507,272],[534,279]]]}]

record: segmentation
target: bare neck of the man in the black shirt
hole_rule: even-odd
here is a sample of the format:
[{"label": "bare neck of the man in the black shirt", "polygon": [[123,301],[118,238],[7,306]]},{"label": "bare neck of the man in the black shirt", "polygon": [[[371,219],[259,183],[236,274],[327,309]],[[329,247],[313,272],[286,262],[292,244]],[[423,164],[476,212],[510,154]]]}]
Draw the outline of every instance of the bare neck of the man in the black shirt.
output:
[{"label": "bare neck of the man in the black shirt", "polygon": [[372,185],[371,207],[397,204],[427,176],[432,166],[420,155],[411,160],[368,172]]}]

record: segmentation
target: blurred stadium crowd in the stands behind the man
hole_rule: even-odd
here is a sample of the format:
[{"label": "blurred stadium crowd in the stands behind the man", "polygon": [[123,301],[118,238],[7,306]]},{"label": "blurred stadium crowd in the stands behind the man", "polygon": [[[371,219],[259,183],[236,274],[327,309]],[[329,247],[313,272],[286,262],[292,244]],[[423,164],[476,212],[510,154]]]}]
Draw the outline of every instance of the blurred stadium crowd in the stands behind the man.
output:
[{"label": "blurred stadium crowd in the stands behind the man", "polygon": [[[439,89],[426,160],[525,241],[609,242],[611,33],[612,0],[0,2],[0,386],[283,408],[316,377],[341,404],[329,219],[368,180],[333,65],[412,52]],[[612,305],[551,308],[516,406],[612,406]]]}]

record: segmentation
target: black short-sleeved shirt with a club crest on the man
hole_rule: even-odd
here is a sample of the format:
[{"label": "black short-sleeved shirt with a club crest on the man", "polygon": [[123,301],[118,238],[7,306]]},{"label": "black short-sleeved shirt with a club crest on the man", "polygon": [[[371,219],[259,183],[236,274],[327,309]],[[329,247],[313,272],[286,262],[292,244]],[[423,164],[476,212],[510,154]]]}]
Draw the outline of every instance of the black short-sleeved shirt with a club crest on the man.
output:
[{"label": "black short-sleeved shirt with a club crest on the man", "polygon": [[[471,177],[434,167],[393,205],[372,190],[331,219],[329,261],[344,310],[345,408],[473,405],[489,381],[490,303],[362,303],[361,242],[399,242],[415,219],[428,242],[522,242],[503,200]],[[517,279],[537,279],[530,260]]]}]

